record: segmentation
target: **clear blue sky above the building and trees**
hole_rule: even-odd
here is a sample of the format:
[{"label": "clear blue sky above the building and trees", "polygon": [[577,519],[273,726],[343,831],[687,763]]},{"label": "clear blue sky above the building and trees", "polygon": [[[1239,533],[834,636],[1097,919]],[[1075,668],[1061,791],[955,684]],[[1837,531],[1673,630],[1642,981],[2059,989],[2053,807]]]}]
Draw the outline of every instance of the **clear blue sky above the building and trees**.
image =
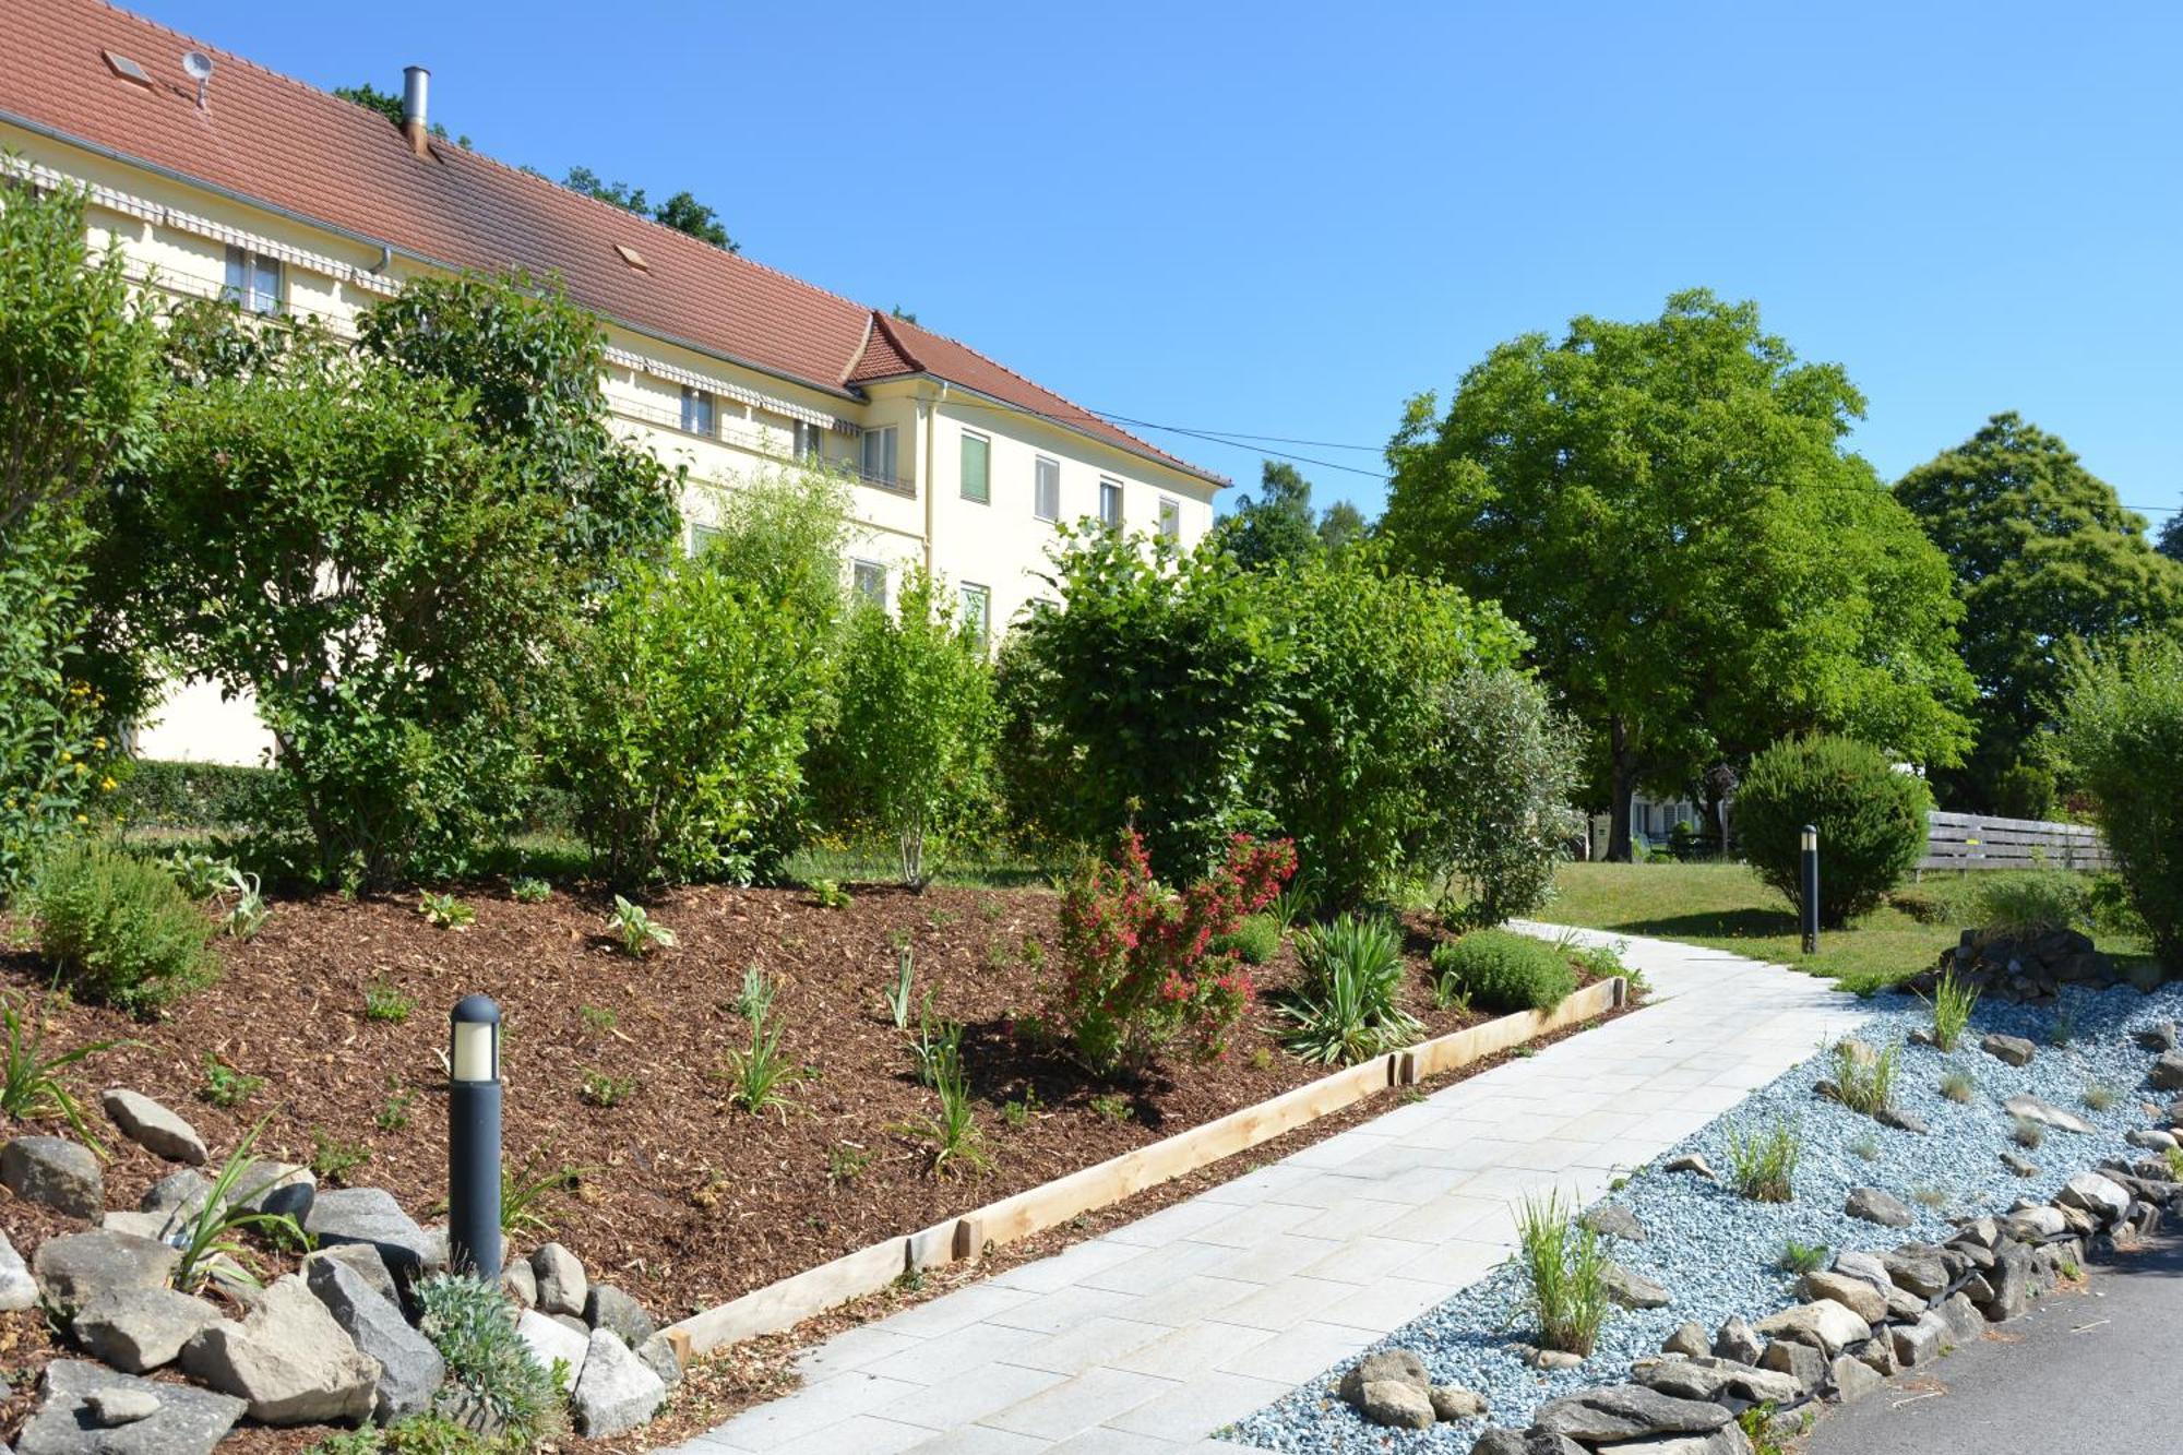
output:
[{"label": "clear blue sky above the building and trees", "polygon": [[[2183,505],[2183,7],[129,0],[1377,511],[1506,336],[1753,297],[1886,474],[2015,409]],[[611,15],[611,26],[603,24]],[[1257,454],[1155,441],[1238,483]],[[2155,516],[2155,524],[2163,516]]]}]

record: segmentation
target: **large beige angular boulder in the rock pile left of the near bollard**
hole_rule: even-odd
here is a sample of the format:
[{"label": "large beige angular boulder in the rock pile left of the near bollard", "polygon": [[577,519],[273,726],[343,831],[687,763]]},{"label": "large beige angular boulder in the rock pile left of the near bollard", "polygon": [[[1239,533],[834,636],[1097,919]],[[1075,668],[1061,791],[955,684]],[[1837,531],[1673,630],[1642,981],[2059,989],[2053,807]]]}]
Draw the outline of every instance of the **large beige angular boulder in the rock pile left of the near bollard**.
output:
[{"label": "large beige angular boulder in the rock pile left of the near bollard", "polygon": [[371,1418],[380,1361],[356,1348],[299,1274],[273,1280],[240,1322],[190,1339],[181,1368],[249,1403],[260,1424],[360,1424]]}]

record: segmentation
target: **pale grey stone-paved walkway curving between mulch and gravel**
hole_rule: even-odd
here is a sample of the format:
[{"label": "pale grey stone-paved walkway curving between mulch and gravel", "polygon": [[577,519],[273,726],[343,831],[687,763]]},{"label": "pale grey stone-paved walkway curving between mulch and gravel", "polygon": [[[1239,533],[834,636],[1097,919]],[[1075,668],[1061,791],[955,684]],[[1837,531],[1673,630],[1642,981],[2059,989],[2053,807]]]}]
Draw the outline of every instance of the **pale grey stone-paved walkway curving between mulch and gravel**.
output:
[{"label": "pale grey stone-paved walkway curving between mulch and gravel", "polygon": [[801,1389],[681,1451],[1238,1455],[1212,1431],[1502,1263],[1524,1195],[1598,1197],[1860,1018],[1808,974],[1626,944],[1648,1009],[836,1335]]}]

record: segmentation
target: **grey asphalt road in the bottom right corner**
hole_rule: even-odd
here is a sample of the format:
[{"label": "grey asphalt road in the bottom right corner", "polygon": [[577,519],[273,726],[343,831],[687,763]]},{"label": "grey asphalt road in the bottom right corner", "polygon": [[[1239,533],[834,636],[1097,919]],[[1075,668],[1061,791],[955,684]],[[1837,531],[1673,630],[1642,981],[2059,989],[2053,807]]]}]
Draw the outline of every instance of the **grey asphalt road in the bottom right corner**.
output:
[{"label": "grey asphalt road in the bottom right corner", "polygon": [[1808,1455],[2052,1455],[2183,1451],[2174,1418],[2183,1237],[2089,1269],[1971,1348],[1906,1370],[1821,1418]]}]

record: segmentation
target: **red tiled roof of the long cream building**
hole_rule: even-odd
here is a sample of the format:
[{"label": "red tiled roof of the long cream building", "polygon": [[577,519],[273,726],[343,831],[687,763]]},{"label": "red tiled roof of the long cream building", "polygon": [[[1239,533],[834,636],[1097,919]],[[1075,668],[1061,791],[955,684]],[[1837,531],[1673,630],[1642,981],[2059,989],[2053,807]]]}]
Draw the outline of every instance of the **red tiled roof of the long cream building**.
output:
[{"label": "red tiled roof of the long cream building", "polygon": [[[107,50],[153,85],[116,74]],[[183,50],[218,61],[203,111]],[[0,116],[428,262],[557,273],[594,312],[827,393],[932,374],[1225,483],[954,339],[461,146],[419,159],[378,111],[100,0],[0,0]]]}]

